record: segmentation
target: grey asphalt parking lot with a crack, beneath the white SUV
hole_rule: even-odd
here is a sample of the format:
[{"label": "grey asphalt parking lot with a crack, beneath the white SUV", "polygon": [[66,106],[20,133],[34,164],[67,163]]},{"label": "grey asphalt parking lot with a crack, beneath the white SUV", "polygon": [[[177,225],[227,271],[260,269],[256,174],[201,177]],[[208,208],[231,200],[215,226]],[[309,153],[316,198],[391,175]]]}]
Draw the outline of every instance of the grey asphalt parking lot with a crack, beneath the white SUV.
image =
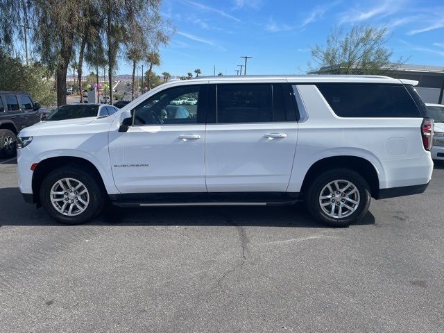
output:
[{"label": "grey asphalt parking lot with a crack, beneath the white SUV", "polygon": [[444,163],[350,228],[296,207],[58,225],[0,160],[0,332],[443,332]]}]

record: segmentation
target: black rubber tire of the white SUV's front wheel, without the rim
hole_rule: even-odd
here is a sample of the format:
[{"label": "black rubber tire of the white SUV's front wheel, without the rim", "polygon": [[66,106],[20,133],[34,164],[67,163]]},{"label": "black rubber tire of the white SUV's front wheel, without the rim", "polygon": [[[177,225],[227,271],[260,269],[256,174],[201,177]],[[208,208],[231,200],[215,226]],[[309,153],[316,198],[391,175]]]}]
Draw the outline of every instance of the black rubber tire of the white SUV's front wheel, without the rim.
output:
[{"label": "black rubber tire of the white SUV's front wheel, without the rim", "polygon": [[[64,178],[72,178],[82,182],[88,192],[88,205],[83,212],[75,216],[62,214],[56,210],[56,207],[51,203],[51,189],[53,185],[55,185],[58,180]],[[40,202],[42,203],[44,210],[46,210],[49,216],[54,220],[71,225],[85,223],[99,215],[106,202],[105,196],[105,191],[101,184],[96,180],[96,176],[86,167],[66,166],[55,169],[45,176],[42,181],[42,186],[40,187]],[[62,203],[63,201],[60,202]]]}]

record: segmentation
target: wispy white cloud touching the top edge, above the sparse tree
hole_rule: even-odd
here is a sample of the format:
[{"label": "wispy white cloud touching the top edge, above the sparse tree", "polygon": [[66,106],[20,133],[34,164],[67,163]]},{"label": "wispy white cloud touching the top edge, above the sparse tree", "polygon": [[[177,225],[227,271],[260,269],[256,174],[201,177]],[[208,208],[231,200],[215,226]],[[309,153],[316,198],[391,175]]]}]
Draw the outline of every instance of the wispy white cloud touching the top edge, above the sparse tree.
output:
[{"label": "wispy white cloud touching the top edge, above the sparse tree", "polygon": [[386,17],[393,15],[404,7],[404,0],[382,0],[372,8],[352,8],[339,15],[339,23],[362,22],[374,17]]}]

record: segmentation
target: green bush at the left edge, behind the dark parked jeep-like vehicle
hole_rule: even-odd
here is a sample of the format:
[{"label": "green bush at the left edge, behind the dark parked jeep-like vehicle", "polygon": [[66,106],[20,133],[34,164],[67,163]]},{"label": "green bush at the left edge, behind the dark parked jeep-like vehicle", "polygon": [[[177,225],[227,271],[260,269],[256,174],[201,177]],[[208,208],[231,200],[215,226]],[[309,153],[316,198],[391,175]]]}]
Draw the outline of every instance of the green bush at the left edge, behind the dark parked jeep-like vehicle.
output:
[{"label": "green bush at the left edge, behind the dark parked jeep-like vehicle", "polygon": [[19,59],[0,50],[0,75],[0,90],[27,92],[44,108],[56,104],[57,95],[51,72],[40,63],[23,65]]}]

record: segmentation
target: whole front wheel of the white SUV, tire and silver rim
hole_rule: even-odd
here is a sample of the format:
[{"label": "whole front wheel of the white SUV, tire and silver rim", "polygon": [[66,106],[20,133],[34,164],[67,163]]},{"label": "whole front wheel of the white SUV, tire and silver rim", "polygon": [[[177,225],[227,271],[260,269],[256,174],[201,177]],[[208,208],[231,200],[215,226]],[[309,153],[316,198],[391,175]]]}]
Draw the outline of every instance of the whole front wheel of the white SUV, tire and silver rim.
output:
[{"label": "whole front wheel of the white SUV, tire and silver rim", "polygon": [[80,224],[101,213],[105,198],[88,169],[67,166],[51,171],[44,178],[40,202],[56,221]]}]

